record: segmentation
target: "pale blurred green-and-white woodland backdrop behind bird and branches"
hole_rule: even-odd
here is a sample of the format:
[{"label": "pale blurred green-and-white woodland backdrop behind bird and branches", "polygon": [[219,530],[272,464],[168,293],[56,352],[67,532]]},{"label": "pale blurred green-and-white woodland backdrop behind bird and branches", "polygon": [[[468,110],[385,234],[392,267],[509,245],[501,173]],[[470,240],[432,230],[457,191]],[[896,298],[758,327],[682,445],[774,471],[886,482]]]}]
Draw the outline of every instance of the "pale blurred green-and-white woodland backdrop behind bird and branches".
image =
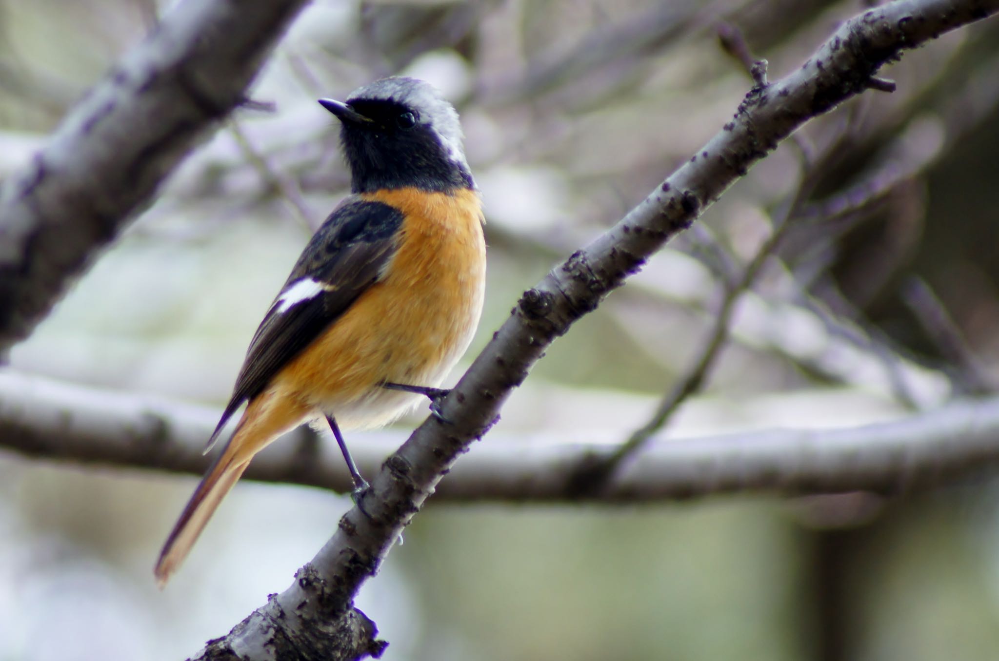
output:
[{"label": "pale blurred green-and-white woodland backdrop behind bird and branches", "polygon": [[[169,4],[0,1],[0,177],[27,163]],[[11,364],[221,407],[310,228],[345,194],[335,120],[316,99],[396,73],[434,82],[463,116],[490,244],[472,356],[523,289],[734,112],[750,82],[719,47],[719,22],[741,30],[776,78],[862,9],[317,0],[252,91],[276,112],[237,111]],[[668,433],[854,425],[988,389],[999,373],[997,72],[993,20],[907,55],[885,72],[894,94],[868,93],[809,125],[707,212],[713,240],[672,242],[557,340],[498,431],[597,430],[613,441],[641,426],[717,305],[718,251],[704,247],[751,258],[795,192],[802,153],[834,142],[809,201],[902,175],[877,201],[791,234],[737,308],[706,390]],[[953,318],[982,382],[922,330],[918,302],[915,313],[905,305],[914,278]],[[400,439],[420,419],[400,424]],[[194,654],[287,587],[350,505],[241,483],[160,592],[153,561],[195,481],[0,451],[0,661]],[[431,502],[359,605],[391,642],[390,660],[995,659],[997,505],[988,475],[893,500]]]}]

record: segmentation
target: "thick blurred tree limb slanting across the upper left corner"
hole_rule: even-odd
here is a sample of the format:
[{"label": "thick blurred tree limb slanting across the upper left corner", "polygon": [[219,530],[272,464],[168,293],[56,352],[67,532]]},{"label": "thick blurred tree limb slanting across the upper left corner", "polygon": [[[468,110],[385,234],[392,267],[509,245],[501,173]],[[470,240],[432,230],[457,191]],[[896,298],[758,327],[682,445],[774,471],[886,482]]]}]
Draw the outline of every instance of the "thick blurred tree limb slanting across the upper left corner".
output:
[{"label": "thick blurred tree limb slanting across the upper left corner", "polygon": [[0,188],[0,352],[26,337],[244,99],[305,0],[188,0]]}]

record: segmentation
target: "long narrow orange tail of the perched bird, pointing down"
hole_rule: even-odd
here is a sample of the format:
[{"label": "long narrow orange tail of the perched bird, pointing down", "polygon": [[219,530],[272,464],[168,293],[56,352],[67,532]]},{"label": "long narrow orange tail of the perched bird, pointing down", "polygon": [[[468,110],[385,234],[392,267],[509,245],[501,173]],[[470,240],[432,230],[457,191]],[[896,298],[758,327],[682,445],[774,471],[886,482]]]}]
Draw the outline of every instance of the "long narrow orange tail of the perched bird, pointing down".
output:
[{"label": "long narrow orange tail of the perched bird, pointing down", "polygon": [[155,574],[161,588],[187,557],[208,519],[250,465],[250,459],[272,440],[301,424],[306,412],[302,405],[276,402],[271,396],[250,402],[232,438],[209,466],[160,551]]}]

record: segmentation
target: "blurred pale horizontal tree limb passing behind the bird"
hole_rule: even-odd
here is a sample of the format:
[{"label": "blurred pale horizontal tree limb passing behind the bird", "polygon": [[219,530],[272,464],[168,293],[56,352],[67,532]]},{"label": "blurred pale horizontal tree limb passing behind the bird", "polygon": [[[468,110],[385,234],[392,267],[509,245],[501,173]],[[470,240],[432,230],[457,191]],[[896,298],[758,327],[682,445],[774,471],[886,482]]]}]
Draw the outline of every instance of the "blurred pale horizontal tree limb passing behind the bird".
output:
[{"label": "blurred pale horizontal tree limb passing behind the bird", "polygon": [[[72,464],[200,475],[205,439],[219,411],[165,398],[0,373],[0,447]],[[359,434],[351,451],[374,474],[402,434]],[[616,449],[597,432],[494,433],[438,486],[435,501],[593,501],[566,489],[589,455]],[[558,442],[553,442],[558,441]],[[999,462],[999,397],[839,429],[773,429],[673,439],[659,436],[629,457],[595,499],[631,503],[719,493],[897,493]],[[353,488],[336,445],[307,428],[275,443],[246,476]]]}]

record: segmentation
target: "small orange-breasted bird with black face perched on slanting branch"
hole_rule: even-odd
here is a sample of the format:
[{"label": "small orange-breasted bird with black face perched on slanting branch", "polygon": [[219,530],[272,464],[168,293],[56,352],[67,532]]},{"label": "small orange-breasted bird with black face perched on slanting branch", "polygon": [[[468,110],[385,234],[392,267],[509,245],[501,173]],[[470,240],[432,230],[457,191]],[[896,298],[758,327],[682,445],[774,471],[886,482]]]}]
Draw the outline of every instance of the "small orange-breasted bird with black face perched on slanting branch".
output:
[{"label": "small orange-breasted bird with black face perched on slanting branch", "polygon": [[243,416],[202,478],[156,563],[166,583],[253,456],[324,418],[355,483],[367,488],[341,429],[387,424],[429,396],[479,325],[484,218],[458,113],[413,78],[386,78],[346,103],[341,122],[352,195],[306,246],[257,329],[209,447]]}]

